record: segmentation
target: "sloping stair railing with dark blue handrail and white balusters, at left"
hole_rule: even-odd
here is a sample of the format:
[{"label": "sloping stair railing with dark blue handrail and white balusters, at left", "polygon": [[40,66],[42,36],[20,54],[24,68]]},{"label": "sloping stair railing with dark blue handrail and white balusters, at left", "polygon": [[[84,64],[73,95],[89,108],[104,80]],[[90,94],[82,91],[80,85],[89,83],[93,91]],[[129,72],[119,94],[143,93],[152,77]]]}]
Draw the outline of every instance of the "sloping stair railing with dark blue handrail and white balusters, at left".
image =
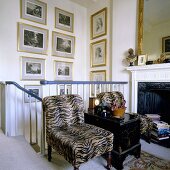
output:
[{"label": "sloping stair railing with dark blue handrail and white balusters, at left", "polygon": [[[6,81],[5,82],[6,84],[6,103],[8,103],[8,100],[10,100],[10,98],[12,97],[12,93],[10,92],[10,90],[8,89],[10,85],[13,85],[15,86],[15,90],[14,90],[14,110],[15,110],[15,115],[13,116],[13,118],[15,119],[15,135],[17,135],[17,129],[19,126],[19,123],[18,123],[18,117],[17,117],[17,114],[19,114],[19,112],[22,112],[23,111],[23,117],[25,116],[24,114],[24,110],[26,110],[26,108],[28,108],[27,110],[29,110],[29,143],[30,145],[37,151],[39,152],[40,151],[40,143],[39,143],[39,140],[38,140],[38,106],[37,106],[37,102],[42,102],[42,98],[40,98],[39,96],[37,96],[36,94],[34,94],[32,91],[30,90],[27,90],[23,87],[21,87],[18,83],[14,82],[14,81]],[[22,96],[20,96],[19,92],[17,91],[19,89],[19,92],[22,93]],[[28,103],[24,103],[24,96],[25,94],[28,95]],[[18,97],[19,96],[19,97]],[[21,98],[20,98],[21,97]],[[35,102],[33,102],[35,101]],[[20,103],[20,104],[19,104]],[[8,103],[10,104],[10,103]],[[34,106],[33,106],[34,105]],[[10,120],[10,110],[8,110],[8,107],[6,105],[6,116],[7,116],[7,119]],[[22,111],[21,111],[22,110]],[[40,109],[40,115],[42,115],[42,109]],[[32,116],[35,116],[35,120],[32,118]],[[11,116],[12,117],[12,116]],[[11,121],[11,120],[10,120]],[[26,120],[25,120],[25,117],[23,118],[22,120],[24,123],[23,124],[23,134],[24,136],[26,137],[25,135],[25,124],[26,124]],[[35,124],[35,128],[34,127],[34,124]],[[12,135],[12,134],[8,134],[8,131],[11,132],[11,129],[8,129],[8,128],[11,128],[11,127],[6,127],[7,128],[7,135]],[[35,129],[35,130],[33,130]],[[34,132],[35,131],[35,132]],[[33,134],[35,134],[33,136]]]}]

